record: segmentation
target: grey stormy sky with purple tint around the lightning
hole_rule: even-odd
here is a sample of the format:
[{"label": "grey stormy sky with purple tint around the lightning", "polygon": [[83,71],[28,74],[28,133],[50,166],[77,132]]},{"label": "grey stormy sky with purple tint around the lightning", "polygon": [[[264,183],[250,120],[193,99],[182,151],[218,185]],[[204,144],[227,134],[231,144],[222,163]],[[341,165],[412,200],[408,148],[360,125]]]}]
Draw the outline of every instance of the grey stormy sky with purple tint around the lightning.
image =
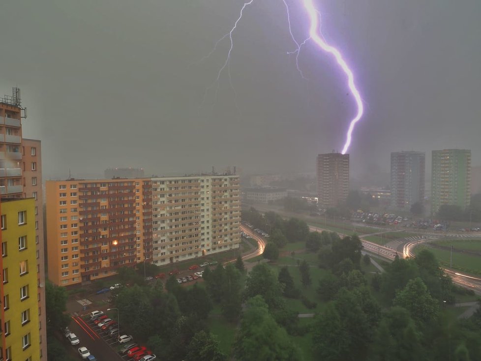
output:
[{"label": "grey stormy sky with purple tint around the lightning", "polygon": [[[293,56],[281,0],[254,0],[217,76],[240,0],[3,0],[0,93],[18,85],[24,136],[43,142],[44,178],[314,170],[341,150],[355,108],[331,57],[308,43]],[[301,0],[288,0],[299,41]],[[317,0],[323,34],[352,66],[366,112],[352,174],[389,171],[390,152],[471,149],[481,164],[481,1]],[[205,96],[205,101],[203,98]]]}]

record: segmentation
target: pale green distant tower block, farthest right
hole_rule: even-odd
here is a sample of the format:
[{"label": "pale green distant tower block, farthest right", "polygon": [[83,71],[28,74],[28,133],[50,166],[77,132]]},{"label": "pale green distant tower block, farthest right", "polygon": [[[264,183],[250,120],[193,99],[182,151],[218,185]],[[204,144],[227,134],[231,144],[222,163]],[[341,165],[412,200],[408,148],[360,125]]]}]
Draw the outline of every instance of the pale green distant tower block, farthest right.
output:
[{"label": "pale green distant tower block, farthest right", "polygon": [[471,196],[471,150],[432,151],[431,213],[442,205],[469,206]]}]

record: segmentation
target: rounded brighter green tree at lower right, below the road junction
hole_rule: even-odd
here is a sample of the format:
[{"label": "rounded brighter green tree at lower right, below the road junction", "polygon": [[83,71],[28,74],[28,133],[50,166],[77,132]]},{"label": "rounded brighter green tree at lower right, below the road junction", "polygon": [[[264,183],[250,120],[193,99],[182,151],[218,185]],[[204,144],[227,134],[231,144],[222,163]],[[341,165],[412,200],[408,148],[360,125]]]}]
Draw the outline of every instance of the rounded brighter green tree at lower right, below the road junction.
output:
[{"label": "rounded brighter green tree at lower right, below the road junction", "polygon": [[394,298],[393,304],[406,308],[411,317],[420,324],[426,324],[436,319],[439,305],[434,300],[422,279],[411,279],[403,290]]}]

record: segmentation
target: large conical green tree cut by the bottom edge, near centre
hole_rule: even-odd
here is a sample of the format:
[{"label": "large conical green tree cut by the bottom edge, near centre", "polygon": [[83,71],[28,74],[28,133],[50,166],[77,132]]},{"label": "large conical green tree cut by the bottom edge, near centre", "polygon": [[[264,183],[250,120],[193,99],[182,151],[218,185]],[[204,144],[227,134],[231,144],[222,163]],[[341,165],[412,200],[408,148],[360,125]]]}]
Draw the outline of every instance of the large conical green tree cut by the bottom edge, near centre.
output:
[{"label": "large conical green tree cut by the bottom edge, near centre", "polygon": [[276,324],[262,296],[247,301],[247,309],[234,345],[234,354],[239,361],[301,360],[299,351],[287,332]]}]

